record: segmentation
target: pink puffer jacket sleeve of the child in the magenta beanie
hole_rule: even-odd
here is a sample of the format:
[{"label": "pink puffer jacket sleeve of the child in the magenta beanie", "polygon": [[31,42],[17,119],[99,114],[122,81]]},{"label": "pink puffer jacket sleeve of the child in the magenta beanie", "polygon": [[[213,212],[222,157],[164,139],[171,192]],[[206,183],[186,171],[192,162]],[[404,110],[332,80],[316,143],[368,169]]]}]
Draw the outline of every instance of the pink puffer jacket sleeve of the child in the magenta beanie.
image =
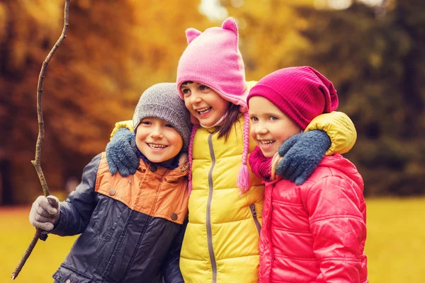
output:
[{"label": "pink puffer jacket sleeve of the child in the magenta beanie", "polygon": [[321,271],[317,281],[360,282],[366,238],[361,188],[339,176],[328,176],[306,190],[302,201]]}]

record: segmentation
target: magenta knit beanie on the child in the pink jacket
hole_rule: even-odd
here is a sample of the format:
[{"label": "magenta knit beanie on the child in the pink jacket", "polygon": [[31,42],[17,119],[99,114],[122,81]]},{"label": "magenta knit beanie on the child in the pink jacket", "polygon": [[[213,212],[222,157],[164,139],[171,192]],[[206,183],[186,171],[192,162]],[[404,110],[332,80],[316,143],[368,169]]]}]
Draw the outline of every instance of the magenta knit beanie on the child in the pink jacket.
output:
[{"label": "magenta knit beanie on the child in the pink jacket", "polygon": [[334,85],[312,67],[290,67],[263,77],[249,91],[246,102],[262,96],[276,105],[302,129],[320,114],[338,107]]}]

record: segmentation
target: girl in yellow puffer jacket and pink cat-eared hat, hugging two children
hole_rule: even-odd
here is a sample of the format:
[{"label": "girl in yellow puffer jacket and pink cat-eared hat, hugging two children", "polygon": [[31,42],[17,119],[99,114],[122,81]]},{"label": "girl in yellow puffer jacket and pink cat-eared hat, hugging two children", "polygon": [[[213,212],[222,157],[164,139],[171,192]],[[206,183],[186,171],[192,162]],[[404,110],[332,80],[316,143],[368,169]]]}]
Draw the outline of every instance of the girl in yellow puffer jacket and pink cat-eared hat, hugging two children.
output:
[{"label": "girl in yellow puffer jacket and pink cat-eared hat, hugging two children", "polygon": [[[177,87],[194,126],[188,149],[191,196],[181,273],[185,282],[258,282],[264,187],[246,163],[255,143],[249,141],[249,86],[237,25],[228,18],[221,28],[204,33],[190,28],[186,37],[188,47],[179,61]],[[307,129],[325,132],[300,134],[280,166],[284,168],[280,175],[297,184],[310,177],[325,151],[342,154],[356,140],[351,120],[341,112],[320,115]],[[116,134],[108,146],[123,151],[123,139]],[[278,144],[267,141],[264,146]],[[112,151],[108,154],[107,148],[108,163],[116,172],[119,159],[125,157]]]}]

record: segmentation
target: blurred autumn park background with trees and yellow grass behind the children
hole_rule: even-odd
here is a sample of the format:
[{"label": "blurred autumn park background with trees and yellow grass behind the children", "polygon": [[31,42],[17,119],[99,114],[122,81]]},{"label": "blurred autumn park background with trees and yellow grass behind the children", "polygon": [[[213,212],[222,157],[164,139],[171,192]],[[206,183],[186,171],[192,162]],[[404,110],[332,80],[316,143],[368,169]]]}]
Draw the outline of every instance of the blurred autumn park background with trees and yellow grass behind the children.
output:
[{"label": "blurred autumn park background with trees and yellow grass behind the children", "polygon": [[[42,194],[30,163],[38,74],[63,26],[62,0],[0,1],[0,282],[33,236]],[[425,1],[72,0],[67,39],[42,92],[42,169],[66,198],[140,94],[175,81],[186,28],[232,16],[247,80],[310,65],[334,82],[358,132],[345,154],[365,180],[370,282],[425,282]],[[39,242],[16,282],[52,282],[75,237]]]}]

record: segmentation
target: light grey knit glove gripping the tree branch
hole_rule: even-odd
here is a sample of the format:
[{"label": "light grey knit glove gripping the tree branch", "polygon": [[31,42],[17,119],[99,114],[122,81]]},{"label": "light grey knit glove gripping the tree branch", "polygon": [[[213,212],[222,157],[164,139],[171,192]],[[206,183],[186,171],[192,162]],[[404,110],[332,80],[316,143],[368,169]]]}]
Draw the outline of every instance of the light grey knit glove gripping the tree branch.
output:
[{"label": "light grey knit glove gripping the tree branch", "polygon": [[30,224],[35,228],[52,231],[60,217],[59,200],[57,197],[40,195],[33,203],[30,211]]}]

